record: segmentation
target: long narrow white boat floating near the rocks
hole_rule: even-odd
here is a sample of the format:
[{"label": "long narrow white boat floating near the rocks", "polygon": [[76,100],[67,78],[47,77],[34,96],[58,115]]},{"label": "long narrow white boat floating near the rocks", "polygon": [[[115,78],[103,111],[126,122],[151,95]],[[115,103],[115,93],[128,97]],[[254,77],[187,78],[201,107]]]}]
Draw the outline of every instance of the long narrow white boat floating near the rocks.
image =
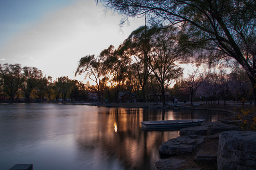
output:
[{"label": "long narrow white boat floating near the rocks", "polygon": [[184,120],[158,120],[142,121],[143,130],[164,130],[170,128],[183,128],[201,125],[205,119],[184,119]]}]

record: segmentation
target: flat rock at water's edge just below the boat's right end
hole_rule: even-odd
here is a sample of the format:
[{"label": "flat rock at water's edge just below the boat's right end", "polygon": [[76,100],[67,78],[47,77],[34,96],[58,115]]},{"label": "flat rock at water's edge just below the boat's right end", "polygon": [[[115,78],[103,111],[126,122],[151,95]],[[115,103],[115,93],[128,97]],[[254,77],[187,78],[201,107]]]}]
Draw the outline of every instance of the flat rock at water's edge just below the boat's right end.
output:
[{"label": "flat rock at water's edge just below the boat's right end", "polygon": [[196,127],[186,127],[179,130],[180,136],[189,136],[189,135],[201,135],[206,136],[208,132],[208,126],[196,126]]}]

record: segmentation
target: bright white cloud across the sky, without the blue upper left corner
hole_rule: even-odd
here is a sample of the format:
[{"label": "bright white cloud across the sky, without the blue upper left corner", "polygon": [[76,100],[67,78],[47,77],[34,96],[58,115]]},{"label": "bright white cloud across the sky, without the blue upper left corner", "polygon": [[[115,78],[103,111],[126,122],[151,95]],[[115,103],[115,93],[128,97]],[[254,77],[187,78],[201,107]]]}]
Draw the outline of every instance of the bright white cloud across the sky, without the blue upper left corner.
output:
[{"label": "bright white cloud across the sky, without the blue upper left corner", "polygon": [[[81,57],[98,55],[111,44],[118,46],[144,21],[131,21],[120,31],[121,16],[104,13],[96,2],[81,0],[77,3],[48,12],[13,39],[1,51],[8,56],[6,62],[37,67],[47,76],[74,78],[74,70]],[[9,63],[12,64],[12,63]]]}]

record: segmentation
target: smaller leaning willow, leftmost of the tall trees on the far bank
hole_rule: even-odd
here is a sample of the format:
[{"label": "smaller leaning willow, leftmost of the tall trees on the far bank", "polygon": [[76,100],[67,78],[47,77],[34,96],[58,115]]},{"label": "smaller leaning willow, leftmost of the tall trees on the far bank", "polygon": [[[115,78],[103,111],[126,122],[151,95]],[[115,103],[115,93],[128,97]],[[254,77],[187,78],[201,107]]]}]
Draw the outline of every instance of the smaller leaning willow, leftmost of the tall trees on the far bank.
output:
[{"label": "smaller leaning willow, leftmost of the tall trees on the far bank", "polygon": [[100,58],[97,58],[94,55],[87,55],[79,60],[77,71],[75,73],[75,76],[85,73],[85,79],[88,77],[95,83],[95,85],[90,86],[90,89],[97,93],[98,101],[101,101],[102,67],[103,65]]}]

